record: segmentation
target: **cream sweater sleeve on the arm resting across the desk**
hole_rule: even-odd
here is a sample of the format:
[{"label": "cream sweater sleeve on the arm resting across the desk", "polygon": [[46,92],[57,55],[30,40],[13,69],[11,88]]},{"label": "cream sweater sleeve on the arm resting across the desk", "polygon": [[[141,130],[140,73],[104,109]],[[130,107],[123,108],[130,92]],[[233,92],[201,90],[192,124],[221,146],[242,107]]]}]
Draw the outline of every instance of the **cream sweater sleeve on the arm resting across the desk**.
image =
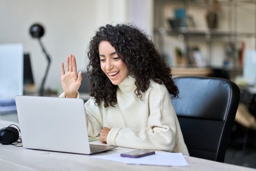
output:
[{"label": "cream sweater sleeve on the arm resting across the desk", "polygon": [[141,130],[112,128],[107,144],[120,147],[173,151],[178,142],[175,111],[164,85],[155,84],[148,97],[148,126]]}]

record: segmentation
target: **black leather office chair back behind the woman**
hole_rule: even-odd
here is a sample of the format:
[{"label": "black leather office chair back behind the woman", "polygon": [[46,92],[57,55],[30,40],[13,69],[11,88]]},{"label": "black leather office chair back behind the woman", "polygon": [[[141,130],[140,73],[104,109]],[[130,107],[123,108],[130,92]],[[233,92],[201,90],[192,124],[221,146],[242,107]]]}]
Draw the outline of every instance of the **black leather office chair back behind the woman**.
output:
[{"label": "black leather office chair back behind the woman", "polygon": [[172,99],[190,156],[224,162],[240,90],[219,78],[176,77]]}]

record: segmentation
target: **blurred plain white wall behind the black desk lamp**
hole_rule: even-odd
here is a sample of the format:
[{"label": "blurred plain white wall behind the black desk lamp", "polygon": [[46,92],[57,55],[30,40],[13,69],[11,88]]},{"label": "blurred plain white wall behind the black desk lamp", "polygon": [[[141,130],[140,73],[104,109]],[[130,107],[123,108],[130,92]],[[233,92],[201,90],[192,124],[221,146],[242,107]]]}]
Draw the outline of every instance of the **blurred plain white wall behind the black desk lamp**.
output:
[{"label": "blurred plain white wall behind the black desk lamp", "polygon": [[[136,1],[130,4],[129,0],[0,0],[0,43],[23,44],[24,52],[30,53],[35,84],[39,87],[47,61],[38,42],[29,35],[29,27],[36,22],[43,24],[46,32],[42,42],[52,57],[45,88],[61,89],[60,63],[72,53],[78,70],[85,70],[87,46],[99,26],[112,22],[134,22],[140,26],[143,21],[143,29],[152,29],[153,1],[142,1],[145,6]],[[134,5],[151,10],[151,15],[135,17],[137,20],[133,21],[129,8]]]}]

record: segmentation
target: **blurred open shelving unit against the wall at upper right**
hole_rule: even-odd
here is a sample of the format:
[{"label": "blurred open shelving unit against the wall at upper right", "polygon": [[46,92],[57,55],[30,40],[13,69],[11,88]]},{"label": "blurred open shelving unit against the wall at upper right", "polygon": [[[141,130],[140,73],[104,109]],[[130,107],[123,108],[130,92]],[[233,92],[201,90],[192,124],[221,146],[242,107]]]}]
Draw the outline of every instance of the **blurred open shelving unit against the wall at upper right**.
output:
[{"label": "blurred open shelving unit against the wall at upper right", "polygon": [[[225,12],[226,12],[226,28],[225,29],[208,29],[208,28],[187,28],[187,27],[182,27],[178,29],[172,29],[168,23],[167,19],[170,16],[166,15],[168,12],[168,5],[174,4],[174,6],[178,6],[179,8],[184,8],[189,9],[190,6],[193,6],[194,8],[198,8],[202,11],[204,9],[205,11],[207,10],[207,5],[205,4],[205,1],[200,1],[200,0],[183,0],[183,1],[178,1],[178,0],[155,0],[154,1],[154,43],[158,47],[160,53],[162,54],[163,58],[168,61],[170,60],[170,54],[169,56],[166,55],[165,47],[168,46],[168,44],[165,42],[164,39],[166,38],[172,38],[173,41],[178,41],[179,44],[180,42],[183,42],[184,45],[184,54],[185,56],[190,59],[191,57],[189,56],[190,53],[190,47],[191,44],[195,44],[196,42],[199,42],[201,44],[204,43],[205,49],[204,51],[206,52],[205,54],[205,59],[206,59],[206,68],[212,68],[216,67],[216,65],[213,64],[213,61],[215,60],[216,56],[214,56],[214,53],[220,52],[221,50],[224,51],[223,49],[219,49],[216,51],[214,49],[215,44],[224,44],[224,43],[230,43],[234,45],[234,50],[232,53],[232,65],[230,66],[224,66],[221,65],[223,62],[219,62],[217,65],[218,68],[224,68],[228,71],[234,71],[237,73],[241,73],[242,71],[242,65],[237,65],[236,64],[236,50],[237,50],[237,44],[240,39],[253,39],[254,41],[254,47],[256,47],[256,0],[220,0],[221,6],[223,8],[225,7]],[[177,5],[178,4],[178,5]],[[253,27],[254,30],[247,31],[245,29],[240,31],[238,29],[238,7],[242,7],[245,5],[250,5],[255,7],[254,9],[254,15],[251,20],[253,21]],[[224,9],[223,9],[224,10]],[[166,12],[167,11],[167,12]],[[170,13],[170,11],[169,11]],[[188,14],[188,13],[187,13]],[[205,15],[205,14],[202,14]],[[196,18],[194,18],[196,20]],[[206,22],[206,21],[203,21]],[[252,27],[250,25],[250,27]],[[191,43],[192,42],[192,43]],[[217,43],[216,43],[217,42]],[[251,45],[251,44],[250,44]],[[173,48],[171,47],[172,45],[168,46],[168,48]],[[219,45],[220,46],[220,45]],[[174,50],[172,50],[174,51]],[[224,55],[222,54],[220,60],[224,60]],[[174,58],[174,57],[172,57]],[[218,58],[220,58],[218,56]],[[170,62],[169,62],[170,63]],[[177,67],[176,65],[171,64],[172,67]],[[178,66],[179,67],[179,66]],[[183,65],[184,67],[184,65]],[[194,65],[186,65],[185,67],[195,67]]]}]

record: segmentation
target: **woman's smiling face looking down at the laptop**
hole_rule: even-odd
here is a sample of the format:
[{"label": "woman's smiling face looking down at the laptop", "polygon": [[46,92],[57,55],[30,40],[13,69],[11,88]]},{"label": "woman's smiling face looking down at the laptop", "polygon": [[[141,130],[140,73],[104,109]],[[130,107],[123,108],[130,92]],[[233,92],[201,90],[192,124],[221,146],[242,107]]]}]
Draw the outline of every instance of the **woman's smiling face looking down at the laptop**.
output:
[{"label": "woman's smiling face looking down at the laptop", "polygon": [[107,75],[112,84],[118,85],[128,76],[126,63],[118,56],[115,48],[108,41],[99,44],[101,70]]}]

